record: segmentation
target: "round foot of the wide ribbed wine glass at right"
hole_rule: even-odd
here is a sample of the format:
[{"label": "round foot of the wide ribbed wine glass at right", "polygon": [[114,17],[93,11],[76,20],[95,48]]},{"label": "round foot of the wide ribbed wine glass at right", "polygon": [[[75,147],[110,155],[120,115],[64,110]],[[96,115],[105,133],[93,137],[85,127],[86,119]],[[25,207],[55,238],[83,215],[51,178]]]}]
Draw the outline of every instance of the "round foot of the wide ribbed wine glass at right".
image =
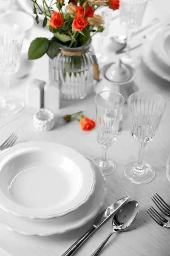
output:
[{"label": "round foot of the wide ribbed wine glass at right", "polygon": [[153,178],[155,177],[155,172],[149,164],[143,163],[142,172],[140,173],[134,170],[136,165],[137,163],[130,163],[125,167],[124,175],[127,180],[130,180],[131,182],[136,184],[145,184],[153,180]]}]

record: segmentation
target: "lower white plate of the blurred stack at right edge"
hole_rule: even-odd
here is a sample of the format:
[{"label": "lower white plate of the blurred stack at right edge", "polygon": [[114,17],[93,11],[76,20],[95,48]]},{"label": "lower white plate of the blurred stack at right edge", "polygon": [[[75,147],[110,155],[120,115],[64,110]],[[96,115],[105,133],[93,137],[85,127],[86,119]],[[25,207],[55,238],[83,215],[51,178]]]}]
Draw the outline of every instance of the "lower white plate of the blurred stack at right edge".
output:
[{"label": "lower white plate of the blurred stack at right edge", "polygon": [[[144,64],[160,78],[170,82],[169,68],[162,65],[152,51],[153,40],[146,40],[142,46],[142,59]],[[169,70],[170,71],[170,70]]]}]

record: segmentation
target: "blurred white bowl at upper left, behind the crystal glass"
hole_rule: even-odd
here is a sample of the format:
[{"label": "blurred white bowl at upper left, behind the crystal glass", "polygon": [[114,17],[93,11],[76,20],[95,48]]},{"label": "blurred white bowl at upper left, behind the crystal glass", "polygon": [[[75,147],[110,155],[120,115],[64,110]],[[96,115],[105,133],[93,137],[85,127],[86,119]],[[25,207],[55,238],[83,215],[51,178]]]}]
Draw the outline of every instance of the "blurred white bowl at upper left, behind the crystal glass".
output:
[{"label": "blurred white bowl at upper left, behind the crystal glass", "polygon": [[2,23],[13,23],[20,26],[26,32],[25,38],[29,39],[34,26],[34,18],[26,12],[6,12],[0,15],[0,24]]}]

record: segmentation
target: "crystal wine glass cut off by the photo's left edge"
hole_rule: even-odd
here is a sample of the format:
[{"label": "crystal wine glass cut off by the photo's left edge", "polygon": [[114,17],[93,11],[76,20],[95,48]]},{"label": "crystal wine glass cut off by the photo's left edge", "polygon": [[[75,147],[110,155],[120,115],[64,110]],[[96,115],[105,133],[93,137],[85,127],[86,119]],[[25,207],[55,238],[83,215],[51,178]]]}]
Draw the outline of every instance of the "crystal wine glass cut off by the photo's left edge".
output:
[{"label": "crystal wine glass cut off by the photo's left edge", "polygon": [[11,74],[20,67],[20,52],[25,31],[15,24],[0,25],[0,75],[6,87],[6,95],[0,96],[0,115],[8,116],[23,109],[23,102],[9,95]]}]

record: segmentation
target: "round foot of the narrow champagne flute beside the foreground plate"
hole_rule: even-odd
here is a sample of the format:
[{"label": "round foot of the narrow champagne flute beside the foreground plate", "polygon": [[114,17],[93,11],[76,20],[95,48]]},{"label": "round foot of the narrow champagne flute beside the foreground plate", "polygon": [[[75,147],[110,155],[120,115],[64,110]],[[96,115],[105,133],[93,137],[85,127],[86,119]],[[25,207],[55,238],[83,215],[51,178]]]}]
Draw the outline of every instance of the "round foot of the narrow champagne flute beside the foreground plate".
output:
[{"label": "round foot of the narrow champagne flute beside the foreground plate", "polygon": [[102,164],[102,157],[96,158],[94,161],[100,167],[104,176],[111,175],[116,170],[116,163],[114,163],[112,160],[108,158],[107,158],[107,165],[105,166]]}]

